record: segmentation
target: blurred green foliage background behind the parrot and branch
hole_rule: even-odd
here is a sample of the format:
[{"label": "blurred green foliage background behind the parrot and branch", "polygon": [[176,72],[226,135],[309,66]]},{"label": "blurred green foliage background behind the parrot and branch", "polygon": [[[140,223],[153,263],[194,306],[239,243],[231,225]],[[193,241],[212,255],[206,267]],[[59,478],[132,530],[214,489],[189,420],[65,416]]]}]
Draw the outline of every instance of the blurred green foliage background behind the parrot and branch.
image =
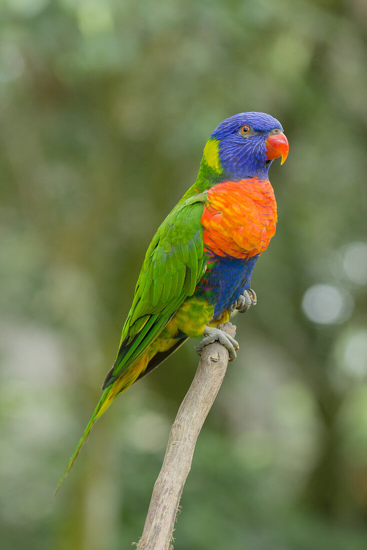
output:
[{"label": "blurred green foliage background behind the parrot and branch", "polygon": [[3,550],[131,548],[195,373],[100,396],[145,250],[224,118],[264,111],[276,236],[236,318],[175,550],[367,547],[366,4],[0,3]]}]

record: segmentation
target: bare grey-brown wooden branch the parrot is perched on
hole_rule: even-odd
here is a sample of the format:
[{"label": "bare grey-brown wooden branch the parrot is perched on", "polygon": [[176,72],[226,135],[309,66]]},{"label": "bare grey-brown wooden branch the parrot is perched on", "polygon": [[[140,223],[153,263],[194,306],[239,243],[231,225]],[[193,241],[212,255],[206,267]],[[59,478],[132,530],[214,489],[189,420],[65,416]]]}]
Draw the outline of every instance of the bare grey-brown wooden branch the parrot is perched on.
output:
[{"label": "bare grey-brown wooden branch the parrot is perched on", "polygon": [[[235,336],[231,323],[218,328]],[[172,425],[166,454],[154,484],[143,535],[137,550],[168,550],[196,441],[222,385],[228,351],[219,342],[204,348],[193,379]]]}]

